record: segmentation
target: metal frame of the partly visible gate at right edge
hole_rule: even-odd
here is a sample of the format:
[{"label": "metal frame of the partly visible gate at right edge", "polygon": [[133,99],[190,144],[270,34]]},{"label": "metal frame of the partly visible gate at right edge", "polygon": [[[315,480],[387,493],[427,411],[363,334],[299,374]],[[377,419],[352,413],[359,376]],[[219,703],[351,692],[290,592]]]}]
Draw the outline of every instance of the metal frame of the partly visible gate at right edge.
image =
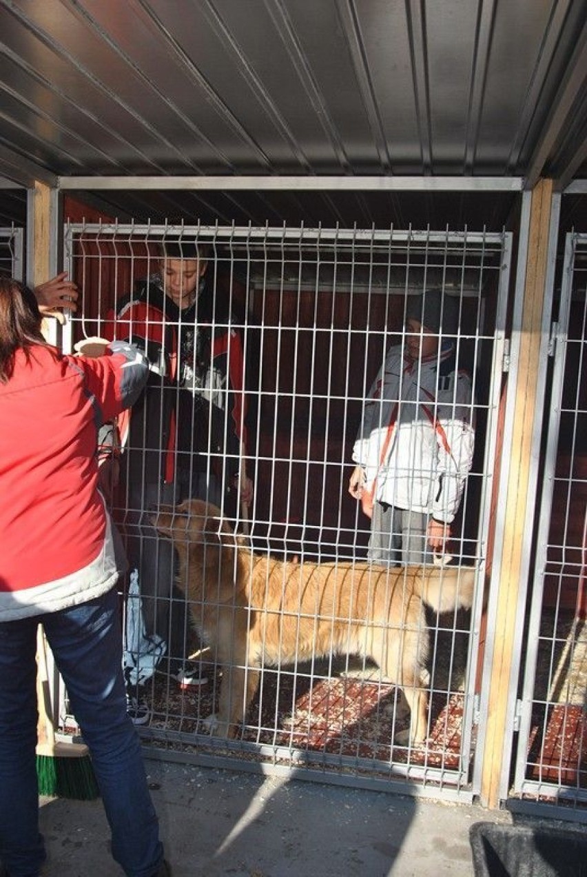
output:
[{"label": "metal frame of the partly visible gate at right edge", "polygon": [[[552,373],[552,396],[548,414],[547,444],[544,454],[544,472],[542,476],[541,499],[539,505],[539,526],[536,536],[536,559],[534,564],[534,577],[531,583],[532,598],[528,617],[526,667],[523,676],[523,684],[520,700],[517,704],[519,717],[519,738],[515,750],[515,770],[513,776],[513,795],[528,795],[538,799],[543,796],[547,799],[556,799],[567,803],[587,803],[587,789],[572,788],[548,780],[533,780],[527,778],[528,751],[530,747],[532,709],[534,704],[534,692],[540,644],[541,617],[543,611],[543,597],[545,590],[545,576],[548,567],[548,536],[551,525],[553,500],[555,495],[555,467],[561,427],[562,414],[562,390],[564,386],[565,367],[568,352],[568,333],[570,305],[573,295],[573,281],[578,247],[587,248],[587,234],[570,232],[565,237],[564,261],[562,267],[561,300],[558,314],[558,322],[553,324],[551,332],[551,346],[555,357]],[[564,545],[562,545],[564,549]],[[513,804],[516,809],[535,809],[536,812],[544,813],[551,809],[548,804],[541,802],[533,807],[532,802],[518,802]],[[564,813],[557,813],[565,819],[574,816],[579,821],[585,820],[584,813],[573,814],[569,808]]]}]

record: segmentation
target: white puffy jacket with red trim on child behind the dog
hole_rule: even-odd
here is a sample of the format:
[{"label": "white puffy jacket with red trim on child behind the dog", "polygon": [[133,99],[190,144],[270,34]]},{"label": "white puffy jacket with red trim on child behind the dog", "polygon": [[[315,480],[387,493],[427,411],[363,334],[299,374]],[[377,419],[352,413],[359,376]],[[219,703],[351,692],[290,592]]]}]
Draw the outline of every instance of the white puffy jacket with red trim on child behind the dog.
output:
[{"label": "white puffy jacket with red trim on child behind the dog", "polygon": [[449,524],[463,496],[475,444],[470,378],[450,346],[411,360],[390,348],[364,403],[352,458],[374,501]]}]

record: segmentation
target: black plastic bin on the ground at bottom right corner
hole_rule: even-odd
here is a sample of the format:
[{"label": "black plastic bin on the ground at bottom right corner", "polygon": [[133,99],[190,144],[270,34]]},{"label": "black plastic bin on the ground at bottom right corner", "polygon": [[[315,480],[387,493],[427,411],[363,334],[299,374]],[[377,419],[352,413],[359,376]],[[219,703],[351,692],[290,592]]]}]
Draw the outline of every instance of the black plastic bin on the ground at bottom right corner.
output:
[{"label": "black plastic bin on the ground at bottom right corner", "polygon": [[587,877],[581,831],[476,823],[469,837],[475,877]]}]

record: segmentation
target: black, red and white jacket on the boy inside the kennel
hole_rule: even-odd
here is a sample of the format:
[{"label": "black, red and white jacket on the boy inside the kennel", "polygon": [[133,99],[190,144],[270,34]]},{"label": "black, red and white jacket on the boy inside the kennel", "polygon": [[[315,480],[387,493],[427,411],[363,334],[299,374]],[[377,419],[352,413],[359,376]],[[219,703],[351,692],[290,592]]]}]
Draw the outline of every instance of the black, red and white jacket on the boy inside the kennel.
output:
[{"label": "black, red and white jacket on the boy inside the kennel", "polygon": [[211,467],[228,484],[237,474],[246,441],[244,360],[231,322],[213,308],[205,282],[180,310],[159,275],[110,312],[106,338],[130,340],[151,363],[145,393],[118,420],[129,481],[170,482]]}]

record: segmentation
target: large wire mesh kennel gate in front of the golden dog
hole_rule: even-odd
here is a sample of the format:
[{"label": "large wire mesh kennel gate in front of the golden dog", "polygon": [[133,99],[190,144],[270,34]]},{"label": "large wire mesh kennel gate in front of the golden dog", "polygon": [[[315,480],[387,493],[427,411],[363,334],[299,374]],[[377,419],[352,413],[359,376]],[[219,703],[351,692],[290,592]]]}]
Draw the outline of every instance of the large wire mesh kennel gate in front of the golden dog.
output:
[{"label": "large wire mesh kennel gate in front of the golden dog", "polygon": [[[101,451],[142,733],[186,758],[469,794],[510,236],[69,225],[65,247],[65,345],[131,339],[151,362]],[[380,391],[390,351],[401,392],[428,395]],[[433,553],[402,524],[423,572],[371,562],[383,531],[349,489],[371,471],[369,406],[371,481],[428,491],[450,536]]]}]

